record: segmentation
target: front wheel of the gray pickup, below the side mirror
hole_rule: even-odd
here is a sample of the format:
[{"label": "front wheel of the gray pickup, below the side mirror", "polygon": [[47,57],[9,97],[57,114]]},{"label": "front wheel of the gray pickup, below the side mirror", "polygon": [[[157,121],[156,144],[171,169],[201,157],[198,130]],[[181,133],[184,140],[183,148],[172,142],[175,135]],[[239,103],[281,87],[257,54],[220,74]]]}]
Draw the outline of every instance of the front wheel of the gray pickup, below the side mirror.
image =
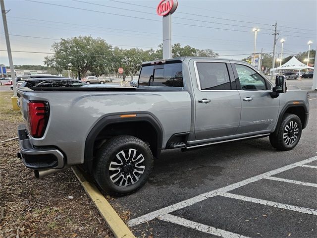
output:
[{"label": "front wheel of the gray pickup, below the side mirror", "polygon": [[302,122],[294,114],[284,114],[277,131],[269,135],[271,145],[282,151],[293,149],[302,135]]}]

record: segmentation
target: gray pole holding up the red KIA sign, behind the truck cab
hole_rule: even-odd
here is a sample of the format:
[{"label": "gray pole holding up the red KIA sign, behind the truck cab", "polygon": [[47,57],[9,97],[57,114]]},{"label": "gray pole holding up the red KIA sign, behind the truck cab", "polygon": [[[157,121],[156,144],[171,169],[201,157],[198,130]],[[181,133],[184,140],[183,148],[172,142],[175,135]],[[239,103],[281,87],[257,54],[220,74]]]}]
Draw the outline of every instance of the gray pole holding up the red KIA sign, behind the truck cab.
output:
[{"label": "gray pole holding up the red KIA sign, behind the truck cab", "polygon": [[163,59],[172,58],[172,15],[163,16]]}]

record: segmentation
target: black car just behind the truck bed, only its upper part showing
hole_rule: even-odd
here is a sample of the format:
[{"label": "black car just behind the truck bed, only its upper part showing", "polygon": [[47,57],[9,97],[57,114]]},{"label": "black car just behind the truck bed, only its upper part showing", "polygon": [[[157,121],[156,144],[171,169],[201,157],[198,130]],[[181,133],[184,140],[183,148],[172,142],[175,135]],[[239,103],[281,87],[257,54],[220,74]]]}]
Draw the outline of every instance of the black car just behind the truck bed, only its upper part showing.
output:
[{"label": "black car just behind the truck bed, only its upper part showing", "polygon": [[72,87],[87,86],[85,82],[70,78],[30,78],[25,80],[20,87]]}]

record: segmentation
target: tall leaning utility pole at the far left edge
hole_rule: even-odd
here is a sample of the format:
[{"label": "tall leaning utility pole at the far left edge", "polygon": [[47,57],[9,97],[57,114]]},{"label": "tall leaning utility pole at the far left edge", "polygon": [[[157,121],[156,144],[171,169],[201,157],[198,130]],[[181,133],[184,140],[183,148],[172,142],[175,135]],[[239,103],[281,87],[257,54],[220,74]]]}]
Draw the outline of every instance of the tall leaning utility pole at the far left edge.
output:
[{"label": "tall leaning utility pole at the far left edge", "polygon": [[[9,40],[9,31],[8,31],[8,26],[6,23],[6,11],[4,8],[4,1],[0,0],[1,4],[1,12],[2,12],[2,20],[3,20],[3,28],[4,28],[4,35],[5,35],[5,42],[6,42],[6,50],[8,52],[8,58],[9,58],[9,65],[10,65],[10,71],[11,71],[11,78],[12,78],[12,84],[13,84],[13,97],[17,97],[16,95],[16,80],[15,80],[15,73],[14,73],[14,67],[13,67],[13,60],[12,60],[12,54],[11,54],[11,46],[10,46],[10,40]],[[13,102],[12,99],[12,105],[13,109],[15,109],[17,105]],[[16,99],[17,102],[17,99]],[[19,110],[19,109],[17,109]]]}]

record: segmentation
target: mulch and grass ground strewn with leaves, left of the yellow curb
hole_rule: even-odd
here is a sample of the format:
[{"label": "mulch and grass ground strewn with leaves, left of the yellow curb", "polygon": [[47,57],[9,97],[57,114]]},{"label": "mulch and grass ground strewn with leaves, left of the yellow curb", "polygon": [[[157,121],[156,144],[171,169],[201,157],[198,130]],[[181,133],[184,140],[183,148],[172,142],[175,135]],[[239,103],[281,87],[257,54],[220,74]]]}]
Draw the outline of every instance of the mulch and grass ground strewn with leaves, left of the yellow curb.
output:
[{"label": "mulch and grass ground strewn with leaves, left of the yellow curb", "polygon": [[[22,122],[11,109],[11,95],[0,92],[0,141],[16,137]],[[35,179],[17,152],[17,140],[0,143],[0,237],[113,237],[71,169]]]}]

